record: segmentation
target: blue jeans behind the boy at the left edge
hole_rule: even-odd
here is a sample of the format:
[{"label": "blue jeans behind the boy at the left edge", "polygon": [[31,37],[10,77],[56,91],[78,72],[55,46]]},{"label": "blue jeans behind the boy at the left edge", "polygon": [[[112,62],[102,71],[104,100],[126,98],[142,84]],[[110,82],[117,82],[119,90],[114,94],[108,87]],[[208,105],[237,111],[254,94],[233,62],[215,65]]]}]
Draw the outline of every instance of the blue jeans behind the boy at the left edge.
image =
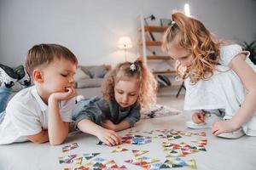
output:
[{"label": "blue jeans behind the boy at the left edge", "polygon": [[8,103],[9,96],[12,93],[12,88],[0,88],[0,123],[3,122],[3,118],[5,116],[5,108]]}]

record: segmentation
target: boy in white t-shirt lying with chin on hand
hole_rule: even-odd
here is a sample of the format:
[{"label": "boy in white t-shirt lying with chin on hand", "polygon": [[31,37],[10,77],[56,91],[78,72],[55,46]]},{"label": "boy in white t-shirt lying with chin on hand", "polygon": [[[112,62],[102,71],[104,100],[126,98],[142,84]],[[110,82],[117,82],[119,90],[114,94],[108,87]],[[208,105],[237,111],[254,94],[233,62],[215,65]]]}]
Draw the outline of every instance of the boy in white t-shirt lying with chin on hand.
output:
[{"label": "boy in white t-shirt lying with chin on hand", "polygon": [[34,86],[21,90],[9,101],[0,125],[0,144],[32,141],[61,144],[72,121],[76,91],[73,75],[78,60],[57,44],[32,47],[26,56],[26,71]]}]

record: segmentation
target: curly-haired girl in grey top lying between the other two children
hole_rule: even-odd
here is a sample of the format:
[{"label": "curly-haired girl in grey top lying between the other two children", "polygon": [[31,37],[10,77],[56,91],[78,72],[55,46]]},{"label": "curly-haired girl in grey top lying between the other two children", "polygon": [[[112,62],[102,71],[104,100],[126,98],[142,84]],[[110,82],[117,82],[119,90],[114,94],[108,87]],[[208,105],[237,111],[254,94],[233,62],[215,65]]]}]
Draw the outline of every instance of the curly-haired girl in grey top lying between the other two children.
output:
[{"label": "curly-haired girl in grey top lying between the other two children", "polygon": [[110,71],[102,85],[102,98],[82,100],[73,111],[75,126],[96,135],[103,143],[116,145],[116,131],[133,127],[141,109],[155,103],[157,82],[143,60],[124,62]]}]

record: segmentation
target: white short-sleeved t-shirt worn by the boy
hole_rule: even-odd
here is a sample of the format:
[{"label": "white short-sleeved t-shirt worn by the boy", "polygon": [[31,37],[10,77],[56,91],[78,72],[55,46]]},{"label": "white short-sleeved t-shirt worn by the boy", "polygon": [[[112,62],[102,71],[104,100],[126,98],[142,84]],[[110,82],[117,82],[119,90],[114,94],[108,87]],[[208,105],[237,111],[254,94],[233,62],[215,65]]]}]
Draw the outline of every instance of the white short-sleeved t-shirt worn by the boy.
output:
[{"label": "white short-sleeved t-shirt worn by the boy", "polygon": [[[60,102],[63,122],[72,122],[75,98]],[[6,115],[0,125],[0,144],[24,142],[26,136],[48,129],[48,105],[38,94],[35,86],[16,94],[7,105]]]}]

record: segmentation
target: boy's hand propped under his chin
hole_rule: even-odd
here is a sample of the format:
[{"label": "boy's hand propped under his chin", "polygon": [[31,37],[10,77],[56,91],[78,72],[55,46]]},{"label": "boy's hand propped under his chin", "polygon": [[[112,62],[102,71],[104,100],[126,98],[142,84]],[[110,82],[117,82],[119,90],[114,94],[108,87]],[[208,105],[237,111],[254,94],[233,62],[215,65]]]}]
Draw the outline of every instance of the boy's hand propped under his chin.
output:
[{"label": "boy's hand propped under his chin", "polygon": [[72,99],[77,95],[77,92],[74,88],[67,88],[67,92],[56,92],[54,94],[50,94],[49,99],[57,99],[57,100],[68,100]]}]

